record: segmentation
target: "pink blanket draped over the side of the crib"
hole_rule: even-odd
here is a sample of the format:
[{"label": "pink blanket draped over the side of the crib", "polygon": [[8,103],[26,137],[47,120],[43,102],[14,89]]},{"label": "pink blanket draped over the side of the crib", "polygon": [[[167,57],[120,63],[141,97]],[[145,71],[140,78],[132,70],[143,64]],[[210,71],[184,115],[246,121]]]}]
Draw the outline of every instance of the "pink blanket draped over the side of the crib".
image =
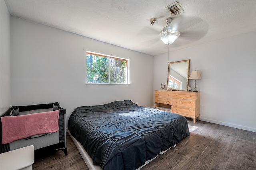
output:
[{"label": "pink blanket draped over the side of the crib", "polygon": [[20,116],[1,117],[2,144],[59,130],[59,110]]}]

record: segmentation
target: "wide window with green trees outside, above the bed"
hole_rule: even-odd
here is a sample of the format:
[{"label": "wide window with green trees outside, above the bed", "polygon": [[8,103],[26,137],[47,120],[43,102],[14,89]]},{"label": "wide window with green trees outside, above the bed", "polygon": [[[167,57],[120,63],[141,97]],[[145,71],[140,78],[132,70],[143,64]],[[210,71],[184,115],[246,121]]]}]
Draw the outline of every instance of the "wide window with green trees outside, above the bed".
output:
[{"label": "wide window with green trees outside, above the bed", "polygon": [[86,83],[128,84],[128,59],[87,51]]}]

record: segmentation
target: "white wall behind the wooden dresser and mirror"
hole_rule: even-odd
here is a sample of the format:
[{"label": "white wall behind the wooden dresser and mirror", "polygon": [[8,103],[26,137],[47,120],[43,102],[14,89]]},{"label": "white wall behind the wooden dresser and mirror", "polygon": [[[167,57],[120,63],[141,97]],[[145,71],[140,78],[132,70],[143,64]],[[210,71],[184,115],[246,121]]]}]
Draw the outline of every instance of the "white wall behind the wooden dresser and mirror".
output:
[{"label": "white wall behind the wooden dresser and mirror", "polygon": [[[170,46],[171,48],[171,46]],[[154,90],[166,84],[168,61],[200,70],[200,119],[256,131],[256,31],[154,56]],[[194,89],[194,80],[189,80]],[[202,109],[202,107],[204,109]]]}]

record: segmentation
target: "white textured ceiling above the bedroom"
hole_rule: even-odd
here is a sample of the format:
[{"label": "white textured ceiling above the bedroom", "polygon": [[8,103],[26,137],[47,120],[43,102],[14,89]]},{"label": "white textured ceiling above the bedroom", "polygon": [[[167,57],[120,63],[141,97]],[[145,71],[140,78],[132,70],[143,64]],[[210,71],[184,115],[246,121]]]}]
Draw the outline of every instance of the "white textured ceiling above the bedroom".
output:
[{"label": "white textured ceiling above the bedroom", "polygon": [[[149,55],[168,52],[160,39],[164,8],[175,0],[5,0],[10,15]],[[174,51],[256,31],[255,0],[178,0],[181,35]],[[150,18],[156,18],[154,25]]]}]

